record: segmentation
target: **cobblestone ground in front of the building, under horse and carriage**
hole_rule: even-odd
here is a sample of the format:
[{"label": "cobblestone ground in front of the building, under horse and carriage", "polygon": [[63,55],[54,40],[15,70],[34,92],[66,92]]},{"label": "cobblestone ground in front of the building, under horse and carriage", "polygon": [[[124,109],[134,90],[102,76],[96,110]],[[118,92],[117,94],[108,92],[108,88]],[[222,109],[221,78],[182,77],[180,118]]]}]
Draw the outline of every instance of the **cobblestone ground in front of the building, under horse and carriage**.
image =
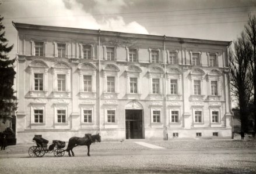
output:
[{"label": "cobblestone ground in front of the building, under horse and carriage", "polygon": [[9,146],[0,153],[0,173],[256,173],[255,141],[146,142],[164,149],[125,140],[94,143],[91,157],[85,146],[78,146],[73,149],[75,157],[65,153],[30,158],[27,150],[32,144]]}]

